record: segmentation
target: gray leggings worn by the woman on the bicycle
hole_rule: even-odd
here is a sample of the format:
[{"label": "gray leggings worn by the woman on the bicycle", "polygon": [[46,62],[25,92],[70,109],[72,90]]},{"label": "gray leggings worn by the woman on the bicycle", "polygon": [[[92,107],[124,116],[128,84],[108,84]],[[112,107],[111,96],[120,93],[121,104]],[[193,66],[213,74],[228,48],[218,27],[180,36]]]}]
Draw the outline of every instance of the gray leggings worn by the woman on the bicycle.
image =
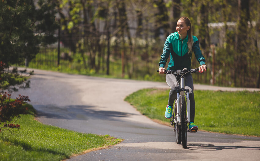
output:
[{"label": "gray leggings worn by the woman on the bicycle", "polygon": [[[185,76],[185,82],[186,86],[185,89],[190,90],[190,109],[191,109],[191,122],[194,122],[194,115],[195,115],[195,100],[194,100],[194,94],[193,94],[193,79],[192,75],[190,73],[187,73]],[[166,82],[168,86],[171,88],[169,93],[169,100],[168,105],[173,106],[174,100],[177,97],[176,90],[180,89],[180,86],[178,85],[178,82],[176,80],[176,76],[173,74],[166,74]]]}]

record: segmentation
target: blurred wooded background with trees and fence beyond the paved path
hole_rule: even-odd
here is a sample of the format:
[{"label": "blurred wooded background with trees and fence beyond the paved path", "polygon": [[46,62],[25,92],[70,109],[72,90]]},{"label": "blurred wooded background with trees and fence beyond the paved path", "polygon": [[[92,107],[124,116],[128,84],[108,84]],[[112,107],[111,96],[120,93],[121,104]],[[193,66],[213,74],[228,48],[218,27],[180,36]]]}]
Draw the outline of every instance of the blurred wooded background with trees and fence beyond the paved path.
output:
[{"label": "blurred wooded background with trees and fence beyond the paved path", "polygon": [[195,83],[260,87],[260,0],[1,0],[0,9],[0,61],[10,66],[165,81],[163,45],[186,16],[208,66]]}]

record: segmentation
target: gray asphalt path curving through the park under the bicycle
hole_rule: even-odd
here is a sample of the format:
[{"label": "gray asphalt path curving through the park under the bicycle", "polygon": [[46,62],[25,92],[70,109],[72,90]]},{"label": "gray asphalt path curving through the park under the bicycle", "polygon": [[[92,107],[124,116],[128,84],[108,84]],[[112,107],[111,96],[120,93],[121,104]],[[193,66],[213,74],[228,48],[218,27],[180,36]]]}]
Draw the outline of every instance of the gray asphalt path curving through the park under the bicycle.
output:
[{"label": "gray asphalt path curving through the park under the bicycle", "polygon": [[[188,148],[183,149],[182,145],[176,144],[172,127],[151,121],[124,101],[127,95],[139,89],[169,88],[166,82],[33,70],[35,75],[31,78],[31,88],[19,90],[12,96],[29,96],[39,121],[78,132],[108,134],[124,139],[110,148],[68,160],[259,160],[260,137],[198,131],[188,133]],[[260,90],[203,85],[195,85],[194,88]]]}]

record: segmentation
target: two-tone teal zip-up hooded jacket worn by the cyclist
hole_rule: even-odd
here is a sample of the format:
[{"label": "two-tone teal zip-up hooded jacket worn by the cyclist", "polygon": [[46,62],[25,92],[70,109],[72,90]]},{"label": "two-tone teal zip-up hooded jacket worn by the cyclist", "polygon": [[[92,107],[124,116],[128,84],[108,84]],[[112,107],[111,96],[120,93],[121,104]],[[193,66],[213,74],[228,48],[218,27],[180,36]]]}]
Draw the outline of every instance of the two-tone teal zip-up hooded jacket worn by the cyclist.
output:
[{"label": "two-tone teal zip-up hooded jacket worn by the cyclist", "polygon": [[[200,65],[205,64],[205,58],[202,55],[200,48],[199,48],[199,40],[196,36],[192,36],[193,38],[193,45],[192,51],[195,54],[196,59],[200,63]],[[170,56],[170,62],[168,64],[167,70],[174,70],[177,69],[191,69],[191,56],[192,53],[189,52],[189,48],[187,45],[188,42],[188,35],[184,40],[179,38],[179,34],[171,33],[164,44],[163,52],[161,55],[161,59],[159,62],[159,67],[165,67],[167,59]]]}]

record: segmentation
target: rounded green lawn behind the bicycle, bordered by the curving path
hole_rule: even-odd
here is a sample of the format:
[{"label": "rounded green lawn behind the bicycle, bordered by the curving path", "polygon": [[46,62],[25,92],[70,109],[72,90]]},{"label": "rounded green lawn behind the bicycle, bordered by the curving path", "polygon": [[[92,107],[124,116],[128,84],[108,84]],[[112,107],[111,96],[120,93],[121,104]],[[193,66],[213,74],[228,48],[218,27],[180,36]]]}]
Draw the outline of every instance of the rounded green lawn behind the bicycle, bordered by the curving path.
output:
[{"label": "rounded green lawn behind the bicycle, bordered by the curving path", "polygon": [[[200,130],[260,136],[260,92],[195,90],[195,123]],[[169,123],[164,118],[169,90],[144,89],[125,100],[141,113]]]}]

